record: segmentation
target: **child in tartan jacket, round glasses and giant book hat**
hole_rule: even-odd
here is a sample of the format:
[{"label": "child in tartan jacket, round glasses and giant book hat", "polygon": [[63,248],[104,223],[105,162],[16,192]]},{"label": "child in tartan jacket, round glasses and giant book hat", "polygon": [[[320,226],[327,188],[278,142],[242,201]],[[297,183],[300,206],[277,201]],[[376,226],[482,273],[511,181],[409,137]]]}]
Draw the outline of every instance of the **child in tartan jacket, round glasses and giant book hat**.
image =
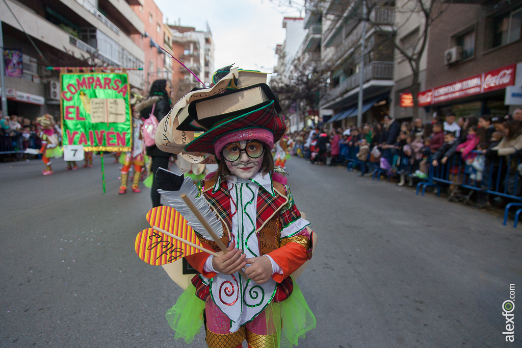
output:
[{"label": "child in tartan jacket, round glasses and giant book hat", "polygon": [[[218,71],[226,75],[222,77],[225,87],[227,79],[236,82],[238,77],[237,68],[228,69]],[[219,109],[220,100],[227,99],[224,97],[236,92],[239,97],[247,89],[230,89],[230,83],[216,96],[214,89],[219,90],[221,82],[214,79],[216,85],[208,92],[202,89],[196,98],[196,92],[182,98],[160,121],[156,133],[160,149],[180,153],[177,130],[183,132],[177,139],[186,144],[181,148],[182,155],[216,157],[217,172],[209,173],[197,189],[198,196],[204,196],[219,217],[221,241],[228,247],[224,253],[219,243],[193,227],[203,246],[218,254],[186,256],[198,274],[166,317],[176,331],[175,338],[185,338],[186,342],[192,341],[205,318],[210,348],[241,347],[244,340],[252,348],[291,347],[315,327],[315,317],[290,276],[311,258],[313,232],[296,207],[290,188],[279,182],[283,178],[276,172],[270,153],[287,127],[277,114],[281,111],[279,103],[266,84],[255,88],[260,86],[268,100],[212,117],[198,114],[203,102],[210,101],[207,110],[212,112]],[[211,97],[201,99],[205,95]],[[199,102],[199,106],[192,104]],[[176,117],[185,106],[189,110],[186,123]],[[194,126],[204,133],[183,143],[187,130]]]}]

